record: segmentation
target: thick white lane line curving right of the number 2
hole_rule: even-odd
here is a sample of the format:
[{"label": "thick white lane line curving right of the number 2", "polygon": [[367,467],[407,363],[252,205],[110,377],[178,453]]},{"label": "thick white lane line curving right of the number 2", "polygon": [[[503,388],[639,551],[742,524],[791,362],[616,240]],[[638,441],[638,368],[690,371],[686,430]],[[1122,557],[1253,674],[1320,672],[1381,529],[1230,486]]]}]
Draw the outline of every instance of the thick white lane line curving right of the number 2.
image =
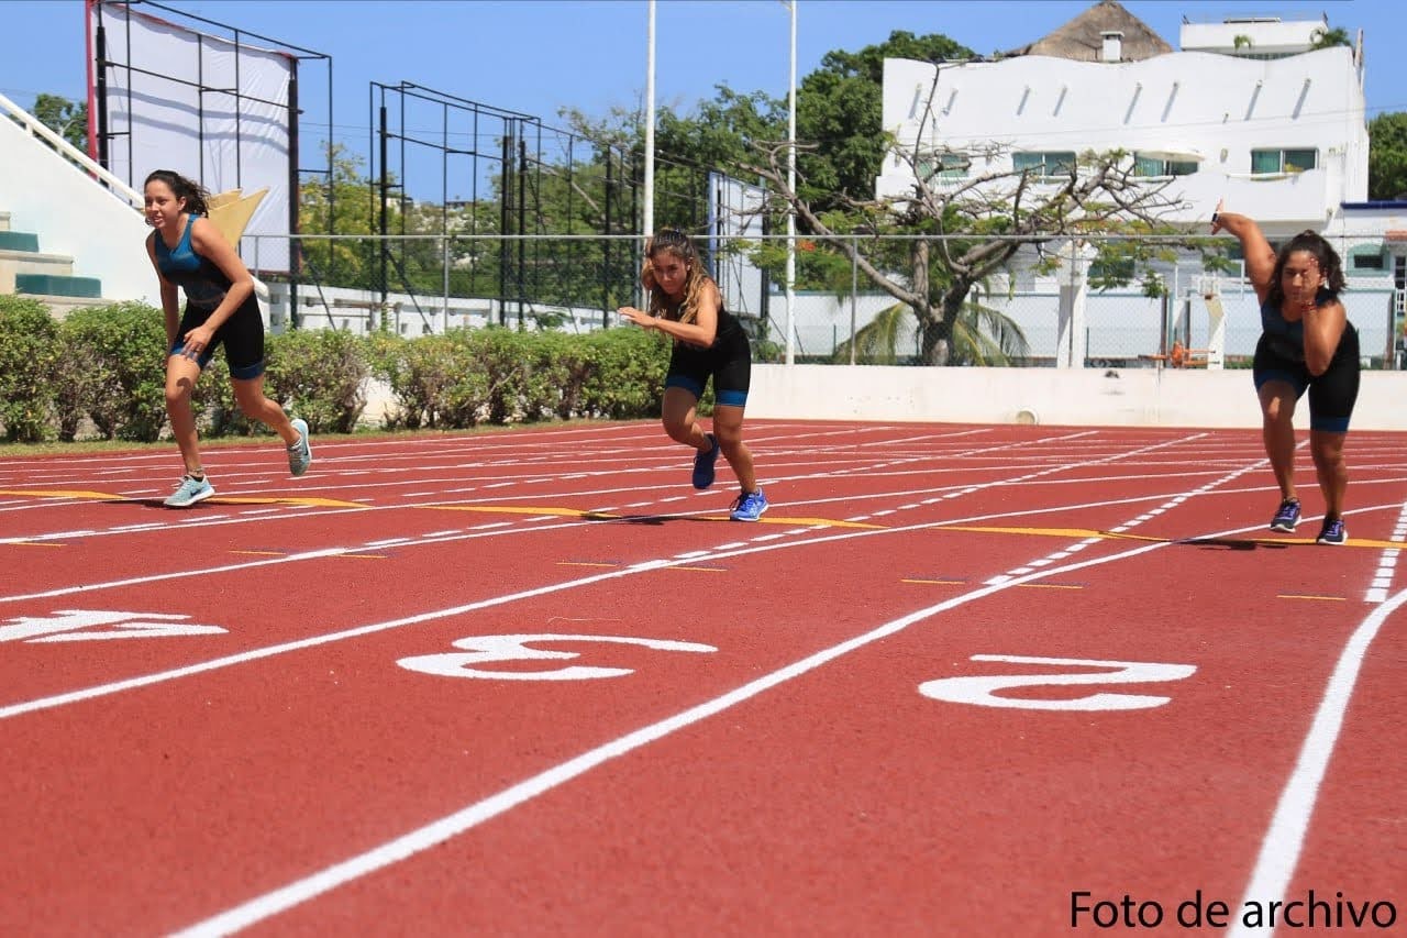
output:
[{"label": "thick white lane line curving right of the number 2", "polygon": [[[1330,758],[1338,742],[1339,731],[1344,728],[1344,714],[1354,697],[1354,686],[1358,683],[1358,673],[1362,670],[1368,646],[1377,637],[1377,631],[1403,603],[1407,603],[1407,590],[1397,593],[1386,603],[1380,604],[1368,618],[1365,618],[1338,656],[1334,673],[1324,689],[1318,710],[1314,713],[1314,723],[1304,737],[1300,756],[1294,763],[1290,779],[1280,792],[1280,800],[1275,806],[1271,827],[1261,842],[1261,855],[1255,861],[1251,882],[1245,887],[1245,894],[1240,908],[1255,901],[1265,908],[1272,901],[1285,899],[1299,866],[1300,851],[1304,848],[1304,835],[1309,832],[1310,818],[1314,814],[1314,801],[1318,799],[1320,783],[1328,770]],[[1227,938],[1240,938],[1261,928],[1247,928],[1237,918],[1237,924],[1227,931]]]}]

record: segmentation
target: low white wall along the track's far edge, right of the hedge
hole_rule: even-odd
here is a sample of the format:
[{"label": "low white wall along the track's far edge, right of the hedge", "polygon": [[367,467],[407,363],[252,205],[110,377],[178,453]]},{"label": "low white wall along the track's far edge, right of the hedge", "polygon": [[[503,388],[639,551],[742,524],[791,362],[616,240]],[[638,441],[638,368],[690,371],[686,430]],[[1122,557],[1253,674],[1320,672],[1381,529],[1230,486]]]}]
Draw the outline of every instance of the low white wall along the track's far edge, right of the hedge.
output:
[{"label": "low white wall along the track's far edge, right of the hedge", "polygon": [[[1407,430],[1407,372],[1365,372],[1356,430]],[[754,365],[747,415],[1096,427],[1259,428],[1248,369],[1057,370],[1051,368],[885,368]],[[1301,400],[1294,424],[1309,427]]]}]

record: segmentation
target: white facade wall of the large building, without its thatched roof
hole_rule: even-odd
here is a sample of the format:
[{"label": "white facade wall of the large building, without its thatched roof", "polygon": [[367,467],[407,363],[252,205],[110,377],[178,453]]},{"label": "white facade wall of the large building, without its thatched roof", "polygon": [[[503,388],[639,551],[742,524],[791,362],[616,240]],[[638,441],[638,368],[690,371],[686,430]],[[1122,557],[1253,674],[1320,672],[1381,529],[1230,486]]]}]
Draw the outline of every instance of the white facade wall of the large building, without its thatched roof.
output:
[{"label": "white facade wall of the large building, without its thatched roof", "polygon": [[[1120,63],[1016,56],[946,65],[937,85],[934,69],[885,59],[884,127],[905,146],[1199,152],[1199,170],[1164,192],[1192,203],[1173,218],[1204,221],[1224,197],[1272,232],[1276,223],[1323,225],[1339,203],[1366,197],[1363,90],[1345,46],[1273,61],[1210,52]],[[1301,148],[1318,151],[1317,169],[1251,177],[1252,149]],[[1010,165],[1009,155],[975,159],[968,175]],[[903,196],[912,185],[908,165],[891,156],[877,194]]]}]

